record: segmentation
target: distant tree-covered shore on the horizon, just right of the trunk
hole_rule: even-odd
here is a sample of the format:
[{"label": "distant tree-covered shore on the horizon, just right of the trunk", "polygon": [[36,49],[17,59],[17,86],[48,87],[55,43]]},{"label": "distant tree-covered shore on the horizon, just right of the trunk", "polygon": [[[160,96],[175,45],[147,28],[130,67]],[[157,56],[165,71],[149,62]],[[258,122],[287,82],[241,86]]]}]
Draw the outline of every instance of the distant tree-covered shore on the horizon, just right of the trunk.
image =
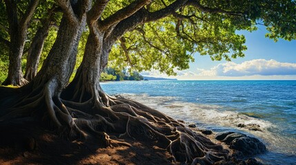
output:
[{"label": "distant tree-covered shore on the horizon, just right of the trunk", "polygon": [[127,69],[117,71],[114,68],[107,67],[101,73],[101,81],[121,81],[121,80],[144,80],[139,72],[128,72]]}]

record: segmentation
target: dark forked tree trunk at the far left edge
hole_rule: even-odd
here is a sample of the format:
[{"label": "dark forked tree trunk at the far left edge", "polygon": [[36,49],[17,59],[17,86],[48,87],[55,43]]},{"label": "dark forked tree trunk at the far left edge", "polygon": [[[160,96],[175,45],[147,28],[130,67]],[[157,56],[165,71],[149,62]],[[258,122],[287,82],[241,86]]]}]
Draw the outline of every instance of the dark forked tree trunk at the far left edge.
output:
[{"label": "dark forked tree trunk at the far left edge", "polygon": [[[3,25],[4,29],[8,30],[10,41],[2,38],[10,47],[9,51],[9,67],[8,76],[3,82],[3,85],[24,85],[27,81],[23,78],[21,70],[21,56],[23,55],[23,48],[25,46],[26,35],[28,31],[28,24],[32,19],[35,9],[39,1],[30,1],[28,4],[17,3],[14,0],[4,1],[6,4],[6,12],[8,17],[9,28]],[[27,6],[27,7],[23,7]],[[20,10],[25,8],[23,12]]]}]

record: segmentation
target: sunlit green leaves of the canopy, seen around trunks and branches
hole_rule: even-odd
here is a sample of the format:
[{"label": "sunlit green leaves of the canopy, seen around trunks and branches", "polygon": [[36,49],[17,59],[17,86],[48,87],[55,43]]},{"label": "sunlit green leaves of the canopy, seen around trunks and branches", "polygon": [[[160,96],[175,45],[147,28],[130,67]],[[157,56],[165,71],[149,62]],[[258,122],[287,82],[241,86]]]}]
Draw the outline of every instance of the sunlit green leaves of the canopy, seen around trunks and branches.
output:
[{"label": "sunlit green leaves of the canopy, seen around trunks and branches", "polygon": [[[101,20],[110,17],[131,2],[132,0],[109,1]],[[152,1],[145,8],[148,12],[157,12],[174,2],[173,0]],[[201,0],[195,2],[202,7],[186,5],[186,7],[177,10],[168,17],[140,24],[137,28],[126,32],[123,38],[113,45],[110,52],[108,67],[114,68],[112,75],[117,76],[117,80],[124,80],[137,72],[150,69],[175,75],[176,69],[188,69],[189,63],[194,61],[193,54],[195,52],[208,55],[213,61],[220,61],[221,59],[230,61],[233,58],[244,57],[244,51],[247,49],[244,45],[246,39],[236,32],[237,30],[252,32],[257,30],[258,24],[265,25],[269,31],[266,36],[275,41],[279,38],[288,41],[296,39],[295,1]],[[17,1],[17,5],[19,13],[25,12],[28,1]],[[54,5],[56,3],[53,0],[40,1],[33,19],[48,19],[48,11]],[[19,17],[21,17],[21,14]],[[57,12],[53,17],[53,22],[59,25],[61,12]],[[8,28],[4,3],[0,3],[0,23],[0,37],[10,41],[8,32],[5,28],[1,28]],[[25,50],[28,50],[30,41],[41,25],[41,21],[30,21]],[[43,47],[39,67],[55,42],[56,36],[57,29],[51,28]],[[83,32],[79,43],[75,71],[82,61],[87,39],[88,30]],[[3,43],[0,43],[0,46],[1,81],[7,73],[9,50]],[[26,58],[26,56],[23,58]],[[126,68],[128,68],[127,71]],[[117,72],[115,73],[115,71]],[[75,72],[72,77],[74,74]],[[104,76],[106,75],[102,77]]]}]

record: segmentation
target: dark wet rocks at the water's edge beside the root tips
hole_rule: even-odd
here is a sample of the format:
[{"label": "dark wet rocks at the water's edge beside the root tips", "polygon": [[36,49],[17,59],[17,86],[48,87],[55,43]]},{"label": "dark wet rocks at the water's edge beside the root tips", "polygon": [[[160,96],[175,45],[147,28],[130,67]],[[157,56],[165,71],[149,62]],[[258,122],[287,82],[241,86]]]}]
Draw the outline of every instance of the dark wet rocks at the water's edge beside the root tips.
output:
[{"label": "dark wet rocks at the water's edge beside the root tips", "polygon": [[[179,122],[184,121],[179,120]],[[206,137],[210,138],[210,140],[216,142],[217,144],[221,144],[230,152],[228,160],[215,162],[215,165],[262,165],[262,162],[257,161],[254,157],[258,154],[266,153],[267,148],[266,145],[258,138],[250,137],[244,133],[234,131],[215,133],[208,129],[197,129],[195,124],[186,123],[186,125],[193,129],[193,131],[202,133]],[[260,126],[257,124],[239,124],[238,127],[246,127],[246,129],[256,129],[256,131],[260,131],[258,129]]]}]

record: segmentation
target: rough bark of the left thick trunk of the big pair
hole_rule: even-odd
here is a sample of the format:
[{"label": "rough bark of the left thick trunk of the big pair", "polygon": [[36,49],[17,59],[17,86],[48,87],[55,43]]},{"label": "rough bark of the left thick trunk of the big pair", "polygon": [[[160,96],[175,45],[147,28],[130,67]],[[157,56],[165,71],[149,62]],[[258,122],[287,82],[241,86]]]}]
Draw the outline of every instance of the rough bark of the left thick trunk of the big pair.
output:
[{"label": "rough bark of the left thick trunk of the big pair", "polygon": [[57,39],[36,78],[32,80],[34,85],[55,79],[58,82],[55,91],[59,96],[61,90],[68,84],[75,67],[77,47],[85,24],[85,17],[79,23],[70,23],[63,17]]}]

